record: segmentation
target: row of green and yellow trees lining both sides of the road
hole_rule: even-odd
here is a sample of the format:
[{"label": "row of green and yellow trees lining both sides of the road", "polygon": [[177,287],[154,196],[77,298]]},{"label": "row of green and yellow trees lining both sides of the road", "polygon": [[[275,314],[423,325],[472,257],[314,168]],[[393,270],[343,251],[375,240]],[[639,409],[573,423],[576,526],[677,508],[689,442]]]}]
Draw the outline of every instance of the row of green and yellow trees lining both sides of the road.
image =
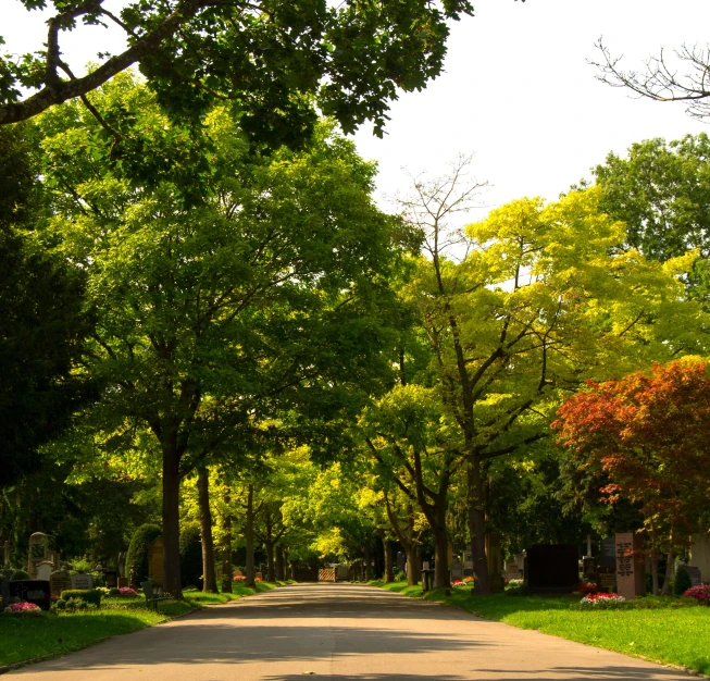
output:
[{"label": "row of green and yellow trees lining both sides of the road", "polygon": [[[524,503],[564,492],[549,425],[565,397],[707,354],[705,136],[459,230],[465,160],[415,178],[393,216],[328,123],[273,150],[225,108],[176,123],[129,73],[92,102],[2,131],[18,255],[0,408],[27,424],[3,435],[7,535],[68,508],[115,546],[111,499],[160,518],[175,594],[180,524],[200,523],[205,589],[237,534],[249,580],[259,545],[275,574],[282,550],[369,567],[379,541],[390,573],[391,540],[416,580],[431,538],[437,585],[456,536],[486,593],[486,532],[527,541]],[[38,487],[58,491],[41,509]]]}]

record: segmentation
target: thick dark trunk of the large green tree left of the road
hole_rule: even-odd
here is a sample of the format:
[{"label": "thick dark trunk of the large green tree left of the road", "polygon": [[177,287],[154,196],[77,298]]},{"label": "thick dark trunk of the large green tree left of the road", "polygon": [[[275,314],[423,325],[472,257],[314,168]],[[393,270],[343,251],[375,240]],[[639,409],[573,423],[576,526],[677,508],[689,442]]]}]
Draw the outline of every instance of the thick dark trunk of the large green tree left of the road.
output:
[{"label": "thick dark trunk of the large green tree left of the road", "polygon": [[183,597],[180,577],[179,455],[163,449],[163,591]]}]

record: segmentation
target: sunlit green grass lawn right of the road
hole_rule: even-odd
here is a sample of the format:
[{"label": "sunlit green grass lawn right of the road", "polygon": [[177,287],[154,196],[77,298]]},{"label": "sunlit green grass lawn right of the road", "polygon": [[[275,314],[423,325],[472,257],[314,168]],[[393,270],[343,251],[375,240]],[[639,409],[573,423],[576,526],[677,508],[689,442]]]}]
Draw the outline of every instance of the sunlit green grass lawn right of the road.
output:
[{"label": "sunlit green grass lawn right of the road", "polygon": [[[408,587],[407,582],[371,584],[422,597],[421,586]],[[662,607],[650,609],[589,611],[574,609],[577,597],[471,596],[469,589],[451,589],[450,596],[439,589],[424,597],[521,629],[710,674],[710,608],[678,607],[676,598],[653,599]]]}]

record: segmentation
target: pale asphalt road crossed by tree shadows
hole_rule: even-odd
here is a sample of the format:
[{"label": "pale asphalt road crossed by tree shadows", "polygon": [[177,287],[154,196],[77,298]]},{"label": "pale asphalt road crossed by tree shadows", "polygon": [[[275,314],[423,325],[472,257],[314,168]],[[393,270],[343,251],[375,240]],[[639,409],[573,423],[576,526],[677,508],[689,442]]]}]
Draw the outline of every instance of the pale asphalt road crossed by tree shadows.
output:
[{"label": "pale asphalt road crossed by tree shadows", "polygon": [[299,585],[115,636],[17,681],[687,681],[678,671],[357,585]]}]

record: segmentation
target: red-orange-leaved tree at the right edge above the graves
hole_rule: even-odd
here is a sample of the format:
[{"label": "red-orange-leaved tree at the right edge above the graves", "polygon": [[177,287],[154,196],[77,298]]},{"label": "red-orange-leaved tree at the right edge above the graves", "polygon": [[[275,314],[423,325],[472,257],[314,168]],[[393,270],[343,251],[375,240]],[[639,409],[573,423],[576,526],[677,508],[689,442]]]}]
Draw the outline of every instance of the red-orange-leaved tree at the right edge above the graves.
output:
[{"label": "red-orange-leaved tree at the right edge above the graves", "polygon": [[687,545],[710,498],[707,364],[684,358],[655,364],[650,374],[587,386],[562,405],[552,428],[581,467],[605,473],[602,500],[625,497],[639,506],[651,538],[653,593],[659,547],[668,550],[665,594],[676,552]]}]

